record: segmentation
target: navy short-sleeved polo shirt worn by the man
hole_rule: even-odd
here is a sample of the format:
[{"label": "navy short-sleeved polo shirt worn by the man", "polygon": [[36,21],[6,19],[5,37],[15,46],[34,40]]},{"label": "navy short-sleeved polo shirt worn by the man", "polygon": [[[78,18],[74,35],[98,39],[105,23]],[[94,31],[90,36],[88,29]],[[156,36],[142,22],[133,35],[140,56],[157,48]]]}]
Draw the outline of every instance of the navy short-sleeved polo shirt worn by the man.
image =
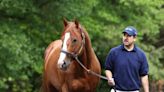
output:
[{"label": "navy short-sleeved polo shirt worn by the man", "polygon": [[132,51],[120,45],[110,50],[105,69],[112,72],[117,90],[134,91],[140,89],[140,77],[148,74],[148,62],[136,45]]}]

